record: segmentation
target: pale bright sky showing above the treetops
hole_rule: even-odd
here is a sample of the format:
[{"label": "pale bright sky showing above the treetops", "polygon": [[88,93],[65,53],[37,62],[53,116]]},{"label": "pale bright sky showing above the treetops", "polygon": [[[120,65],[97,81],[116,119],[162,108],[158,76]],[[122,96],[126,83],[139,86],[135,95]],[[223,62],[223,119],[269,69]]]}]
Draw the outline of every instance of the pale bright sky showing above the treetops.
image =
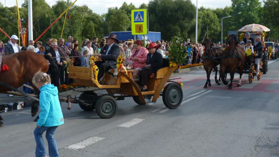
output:
[{"label": "pale bright sky showing above the treetops", "polygon": [[[50,6],[52,4],[55,4],[57,0],[45,0]],[[74,0],[71,0],[74,2]],[[191,0],[194,5],[196,5],[197,0]],[[263,0],[260,0],[262,2]],[[16,5],[15,0],[0,0],[0,2],[7,7],[12,7]],[[24,0],[18,0],[18,5],[21,6],[21,4],[24,2]],[[110,7],[118,7],[120,8],[122,4],[126,2],[128,4],[133,3],[136,7],[139,7],[140,4],[145,3],[148,4],[149,0],[140,0],[140,1],[135,1],[135,0],[77,0],[76,5],[82,6],[84,4],[87,4],[87,6],[93,10],[94,13],[97,14],[104,14],[108,11],[108,8]],[[205,8],[224,8],[226,6],[231,5],[230,0],[198,0],[198,8],[201,6]]]}]

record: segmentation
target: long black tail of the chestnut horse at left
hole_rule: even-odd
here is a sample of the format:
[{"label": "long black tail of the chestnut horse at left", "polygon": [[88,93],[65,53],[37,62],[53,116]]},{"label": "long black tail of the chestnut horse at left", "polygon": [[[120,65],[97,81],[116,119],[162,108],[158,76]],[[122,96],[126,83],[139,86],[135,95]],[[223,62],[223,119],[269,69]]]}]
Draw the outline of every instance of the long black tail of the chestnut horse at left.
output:
[{"label": "long black tail of the chestnut horse at left", "polygon": [[49,55],[44,55],[45,59],[50,62],[48,72],[50,74],[51,83],[58,87],[59,86],[59,78],[58,78],[58,65],[56,64],[55,60],[51,58]]}]

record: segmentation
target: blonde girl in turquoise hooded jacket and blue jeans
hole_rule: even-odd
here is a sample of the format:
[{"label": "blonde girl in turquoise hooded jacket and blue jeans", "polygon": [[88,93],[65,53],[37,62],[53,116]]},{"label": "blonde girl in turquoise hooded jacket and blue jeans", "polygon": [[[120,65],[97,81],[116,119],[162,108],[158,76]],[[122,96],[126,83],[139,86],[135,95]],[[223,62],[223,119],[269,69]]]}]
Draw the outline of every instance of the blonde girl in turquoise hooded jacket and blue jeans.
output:
[{"label": "blonde girl in turquoise hooded jacket and blue jeans", "polygon": [[58,98],[58,90],[50,84],[50,76],[43,72],[35,73],[32,83],[40,90],[40,115],[37,127],[34,130],[36,141],[36,157],[46,156],[42,134],[45,133],[49,146],[49,155],[59,157],[58,148],[54,139],[57,127],[64,124],[64,118]]}]

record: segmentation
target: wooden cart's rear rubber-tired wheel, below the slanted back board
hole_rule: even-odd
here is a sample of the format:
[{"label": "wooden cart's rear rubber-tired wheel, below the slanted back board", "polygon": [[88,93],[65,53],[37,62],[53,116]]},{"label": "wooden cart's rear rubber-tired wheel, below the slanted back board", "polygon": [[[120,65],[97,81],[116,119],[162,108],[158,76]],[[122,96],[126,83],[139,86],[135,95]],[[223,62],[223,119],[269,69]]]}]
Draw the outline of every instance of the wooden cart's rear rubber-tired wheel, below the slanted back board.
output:
[{"label": "wooden cart's rear rubber-tired wheel, below the slanted back board", "polygon": [[180,106],[183,98],[182,88],[177,83],[167,84],[163,90],[163,102],[169,109],[176,109]]}]

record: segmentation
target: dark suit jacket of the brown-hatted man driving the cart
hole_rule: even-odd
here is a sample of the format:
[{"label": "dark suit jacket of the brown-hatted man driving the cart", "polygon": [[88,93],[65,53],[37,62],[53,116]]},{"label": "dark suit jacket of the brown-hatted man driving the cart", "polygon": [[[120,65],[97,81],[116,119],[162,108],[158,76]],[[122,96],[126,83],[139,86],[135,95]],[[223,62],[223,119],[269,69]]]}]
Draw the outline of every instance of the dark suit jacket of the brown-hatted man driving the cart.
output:
[{"label": "dark suit jacket of the brown-hatted man driving the cart", "polygon": [[104,60],[104,62],[108,61],[111,68],[116,68],[116,60],[120,54],[120,49],[118,44],[114,43],[109,49],[108,54],[107,51],[108,51],[108,47],[106,51],[102,54],[101,58]]}]

